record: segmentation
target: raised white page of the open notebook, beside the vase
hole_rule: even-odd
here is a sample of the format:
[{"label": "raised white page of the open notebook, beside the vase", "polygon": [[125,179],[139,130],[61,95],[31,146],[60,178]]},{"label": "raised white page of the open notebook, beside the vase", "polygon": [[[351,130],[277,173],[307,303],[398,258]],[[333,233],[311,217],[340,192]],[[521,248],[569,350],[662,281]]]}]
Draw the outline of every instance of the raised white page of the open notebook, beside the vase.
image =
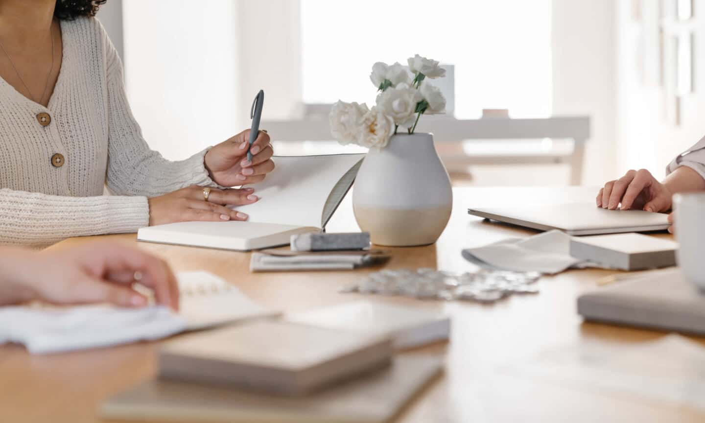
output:
[{"label": "raised white page of the open notebook, beside the vase", "polygon": [[276,168],[262,183],[251,185],[260,200],[233,207],[250,221],[321,227],[321,215],[338,180],[364,154],[274,157]]}]

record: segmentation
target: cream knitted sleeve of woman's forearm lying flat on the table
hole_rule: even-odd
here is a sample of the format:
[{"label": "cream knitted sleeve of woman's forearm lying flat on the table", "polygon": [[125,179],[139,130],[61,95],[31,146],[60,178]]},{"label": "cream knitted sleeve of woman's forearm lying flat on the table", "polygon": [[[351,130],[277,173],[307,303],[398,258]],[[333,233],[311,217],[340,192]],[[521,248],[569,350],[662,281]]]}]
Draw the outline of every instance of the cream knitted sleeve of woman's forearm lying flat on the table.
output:
[{"label": "cream knitted sleeve of woman's forearm lying flat on the table", "polygon": [[44,247],[73,236],[135,232],[148,224],[147,197],[61,197],[0,189],[0,244]]}]

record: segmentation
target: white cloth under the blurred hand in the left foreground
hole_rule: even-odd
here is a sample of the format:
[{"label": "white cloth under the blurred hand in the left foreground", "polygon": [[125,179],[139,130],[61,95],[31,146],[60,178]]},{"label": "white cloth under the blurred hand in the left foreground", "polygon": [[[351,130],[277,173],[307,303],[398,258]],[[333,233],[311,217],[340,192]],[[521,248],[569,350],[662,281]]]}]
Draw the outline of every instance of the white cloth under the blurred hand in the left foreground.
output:
[{"label": "white cloth under the blurred hand in the left foreground", "polygon": [[61,353],[164,338],[186,325],[161,306],[0,307],[0,344],[24,344],[30,354]]}]

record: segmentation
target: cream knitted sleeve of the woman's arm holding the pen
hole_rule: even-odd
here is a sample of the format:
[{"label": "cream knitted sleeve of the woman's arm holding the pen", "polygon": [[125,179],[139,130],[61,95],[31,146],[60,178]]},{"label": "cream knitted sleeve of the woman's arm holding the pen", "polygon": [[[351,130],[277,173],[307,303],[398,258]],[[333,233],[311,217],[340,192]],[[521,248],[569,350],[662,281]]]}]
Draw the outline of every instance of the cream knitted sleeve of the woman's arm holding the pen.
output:
[{"label": "cream knitted sleeve of the woman's arm holding the pen", "polygon": [[109,145],[107,185],[118,195],[154,197],[188,185],[219,186],[204,166],[208,149],[183,161],[168,161],[152,151],[130,110],[120,57],[101,28],[106,51]]}]

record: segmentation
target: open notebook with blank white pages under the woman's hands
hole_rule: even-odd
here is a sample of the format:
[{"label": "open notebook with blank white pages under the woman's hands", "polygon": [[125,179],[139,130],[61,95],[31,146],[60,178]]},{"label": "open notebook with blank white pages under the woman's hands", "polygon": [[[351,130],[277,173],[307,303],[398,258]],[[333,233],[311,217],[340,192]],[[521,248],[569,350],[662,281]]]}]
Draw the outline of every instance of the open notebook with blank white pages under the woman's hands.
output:
[{"label": "open notebook with blank white pages under the woman's hands", "polygon": [[287,245],[321,231],[355,181],[364,154],[274,157],[276,168],[252,185],[259,201],[234,207],[248,221],[181,222],[141,228],[137,240],[224,250]]}]

